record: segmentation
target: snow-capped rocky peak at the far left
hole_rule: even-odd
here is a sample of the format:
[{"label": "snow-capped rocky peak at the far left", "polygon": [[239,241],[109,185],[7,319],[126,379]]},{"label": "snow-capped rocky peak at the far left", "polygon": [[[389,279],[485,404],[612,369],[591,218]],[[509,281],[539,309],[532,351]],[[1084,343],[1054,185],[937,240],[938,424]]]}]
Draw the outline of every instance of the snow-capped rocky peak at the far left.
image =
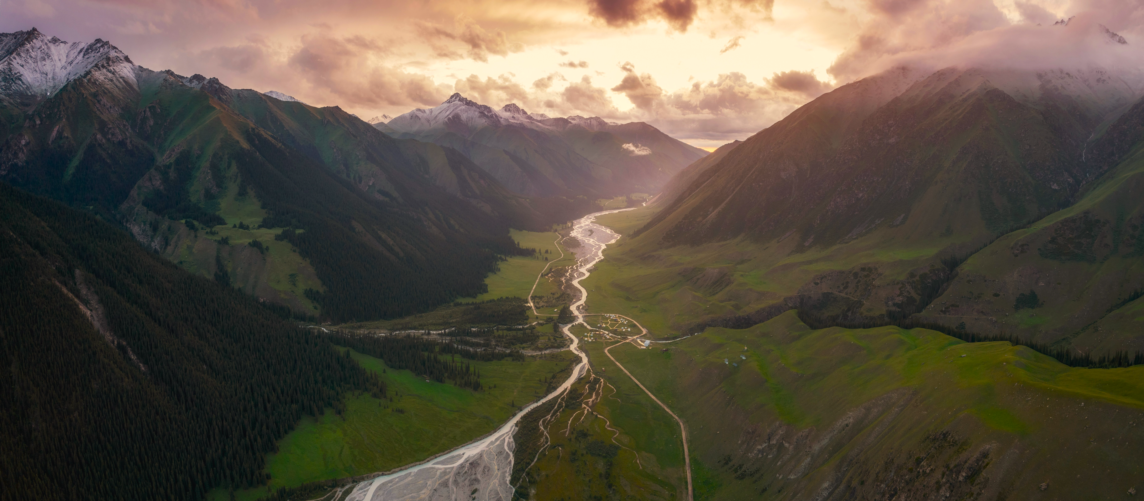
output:
[{"label": "snow-capped rocky peak at the far left", "polygon": [[[37,29],[0,33],[0,94],[50,97],[88,71],[110,84],[137,88],[135,63],[110,42],[65,42]],[[118,80],[118,82],[117,82]]]}]

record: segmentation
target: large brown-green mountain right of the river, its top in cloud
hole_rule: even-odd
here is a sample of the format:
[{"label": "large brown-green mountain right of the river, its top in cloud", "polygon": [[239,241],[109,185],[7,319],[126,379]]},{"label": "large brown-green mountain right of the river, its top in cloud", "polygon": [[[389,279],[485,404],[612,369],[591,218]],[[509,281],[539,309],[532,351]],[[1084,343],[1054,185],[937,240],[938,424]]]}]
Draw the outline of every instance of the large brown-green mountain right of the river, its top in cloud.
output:
[{"label": "large brown-green mountain right of the river, its top in cloud", "polygon": [[[968,255],[1072,205],[1115,165],[1089,158],[1089,140],[1130,108],[1139,82],[1102,69],[869,77],[706,168],[635,232],[638,247],[757,249],[737,269],[774,285],[722,280],[738,310],[747,289],[748,303],[773,307],[752,319],[808,302],[853,320],[906,318]],[[1012,304],[1027,289],[994,292]]]}]

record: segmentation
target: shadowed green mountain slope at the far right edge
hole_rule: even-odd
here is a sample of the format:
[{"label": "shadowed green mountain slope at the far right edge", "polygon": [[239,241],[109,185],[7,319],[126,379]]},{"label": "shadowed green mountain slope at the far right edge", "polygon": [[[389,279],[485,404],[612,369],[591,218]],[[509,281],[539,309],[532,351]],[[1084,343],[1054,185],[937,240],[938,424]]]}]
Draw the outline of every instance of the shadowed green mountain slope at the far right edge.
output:
[{"label": "shadowed green mountain slope at the far right edge", "polygon": [[922,317],[1082,352],[1144,349],[1134,313],[1144,291],[1144,101],[1089,150],[1107,174],[1068,208],[976,253]]}]

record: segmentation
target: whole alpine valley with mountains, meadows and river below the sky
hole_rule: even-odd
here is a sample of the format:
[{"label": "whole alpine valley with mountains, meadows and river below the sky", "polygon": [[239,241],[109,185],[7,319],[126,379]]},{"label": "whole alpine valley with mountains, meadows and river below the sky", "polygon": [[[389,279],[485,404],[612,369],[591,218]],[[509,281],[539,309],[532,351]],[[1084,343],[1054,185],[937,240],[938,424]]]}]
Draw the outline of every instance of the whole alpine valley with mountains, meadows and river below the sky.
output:
[{"label": "whole alpine valley with mountains, meadows and river below the sky", "polygon": [[1028,66],[708,153],[2,33],[0,500],[1130,498],[1144,69]]}]

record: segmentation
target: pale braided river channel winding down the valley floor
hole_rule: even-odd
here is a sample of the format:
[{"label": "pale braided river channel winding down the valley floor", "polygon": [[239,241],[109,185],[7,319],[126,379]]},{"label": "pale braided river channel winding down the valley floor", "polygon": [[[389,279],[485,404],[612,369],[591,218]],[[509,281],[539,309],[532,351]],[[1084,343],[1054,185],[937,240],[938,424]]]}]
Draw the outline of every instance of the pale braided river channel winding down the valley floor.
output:
[{"label": "pale braided river channel winding down the valley floor", "polygon": [[558,388],[543,398],[521,408],[511,419],[484,438],[466,444],[436,459],[410,466],[400,471],[376,477],[356,485],[345,501],[509,501],[513,486],[513,451],[516,444],[516,423],[538,405],[558,397],[572,387],[588,368],[588,356],[580,349],[580,340],[569,328],[583,323],[582,307],[588,300],[588,291],[580,281],[591,273],[591,267],[604,259],[604,248],[620,238],[618,233],[597,224],[596,217],[628,209],[603,210],[588,214],[572,223],[571,237],[580,241],[575,249],[575,272],[572,286],[580,291],[580,297],[571,304],[575,321],[562,327],[564,335],[572,340],[571,350],[580,357],[580,363]]}]

